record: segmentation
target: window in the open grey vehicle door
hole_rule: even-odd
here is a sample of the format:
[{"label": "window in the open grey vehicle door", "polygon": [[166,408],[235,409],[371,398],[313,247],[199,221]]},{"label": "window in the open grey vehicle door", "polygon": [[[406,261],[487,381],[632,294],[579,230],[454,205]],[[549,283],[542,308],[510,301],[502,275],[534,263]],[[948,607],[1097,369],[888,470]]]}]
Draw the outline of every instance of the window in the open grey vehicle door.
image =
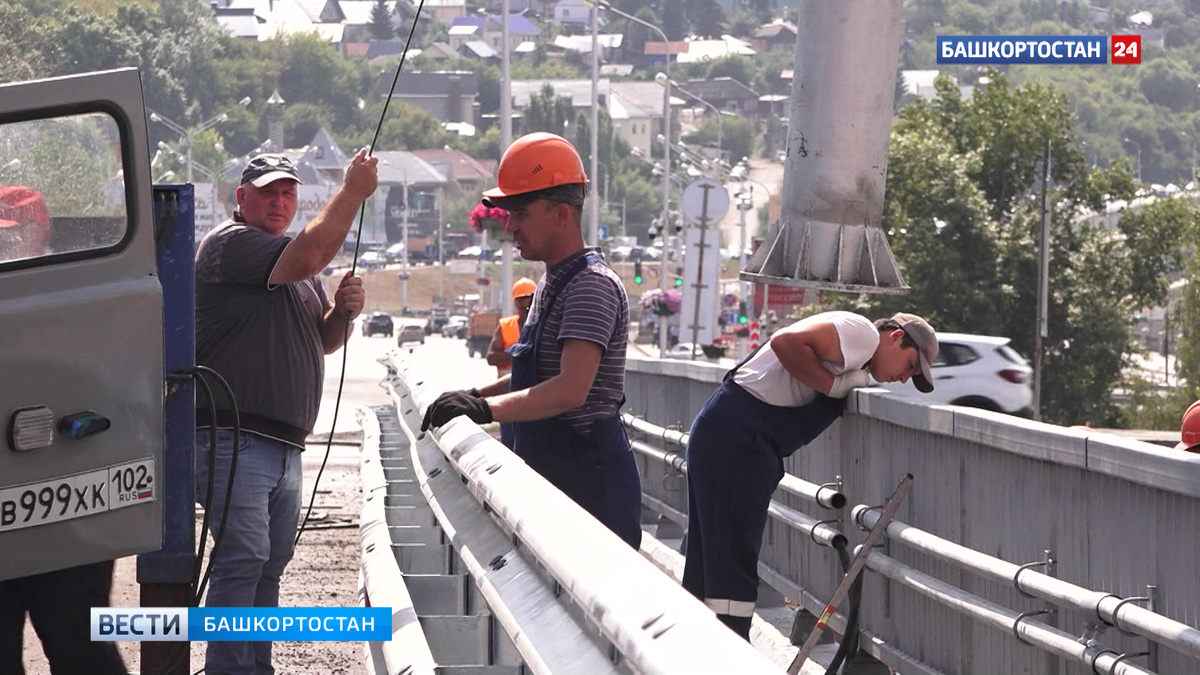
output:
[{"label": "window in the open grey vehicle door", "polygon": [[119,245],[130,217],[121,167],[107,113],[0,125],[0,270]]}]

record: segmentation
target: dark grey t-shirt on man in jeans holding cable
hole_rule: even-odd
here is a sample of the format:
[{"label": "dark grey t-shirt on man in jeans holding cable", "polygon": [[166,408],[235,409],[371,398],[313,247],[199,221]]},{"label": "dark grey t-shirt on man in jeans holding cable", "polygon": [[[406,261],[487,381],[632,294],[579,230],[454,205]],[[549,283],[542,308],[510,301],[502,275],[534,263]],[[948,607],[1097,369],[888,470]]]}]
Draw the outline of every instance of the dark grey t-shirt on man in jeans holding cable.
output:
[{"label": "dark grey t-shirt on man in jeans holding cable", "polygon": [[[196,362],[220,372],[238,398],[242,429],[304,448],[320,407],[325,356],[320,322],[332,306],[320,280],[271,286],[290,238],[226,221],[196,251]],[[232,426],[214,384],[217,426]],[[212,424],[197,400],[197,426]]]}]

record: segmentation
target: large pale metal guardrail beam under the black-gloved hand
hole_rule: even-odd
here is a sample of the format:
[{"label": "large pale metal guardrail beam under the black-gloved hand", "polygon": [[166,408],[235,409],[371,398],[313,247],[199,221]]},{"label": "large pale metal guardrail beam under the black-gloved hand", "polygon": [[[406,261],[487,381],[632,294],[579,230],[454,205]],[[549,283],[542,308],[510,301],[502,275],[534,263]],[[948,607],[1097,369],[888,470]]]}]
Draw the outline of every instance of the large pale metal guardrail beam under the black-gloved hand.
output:
[{"label": "large pale metal guardrail beam under the black-gloved hand", "polygon": [[[421,492],[534,673],[778,675],[700,601],[478,425],[458,418],[436,432],[415,431],[440,389],[408,362],[388,365],[384,387]],[[564,640],[564,631],[575,638]],[[608,667],[596,668],[596,656]]]}]

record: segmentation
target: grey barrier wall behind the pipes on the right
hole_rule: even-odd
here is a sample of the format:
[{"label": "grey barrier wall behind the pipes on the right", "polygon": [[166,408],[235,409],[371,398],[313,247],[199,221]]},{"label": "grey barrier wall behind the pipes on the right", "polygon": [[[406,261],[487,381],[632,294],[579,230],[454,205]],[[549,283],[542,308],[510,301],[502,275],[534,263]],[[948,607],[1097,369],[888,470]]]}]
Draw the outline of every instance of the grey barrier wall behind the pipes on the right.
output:
[{"label": "grey barrier wall behind the pipes on the right", "polygon": [[[655,424],[682,422],[686,429],[722,375],[704,363],[630,362],[628,410]],[[916,483],[899,520],[1015,563],[1040,561],[1049,549],[1057,575],[1087,589],[1129,597],[1157,585],[1159,614],[1200,625],[1200,455],[859,390],[847,401],[847,414],[786,466],[814,483],[841,476],[851,504],[882,503],[911,472]],[[656,476],[643,489],[685,507],[685,492],[664,485],[673,486]],[[776,498],[818,519],[833,518],[782,492]],[[860,542],[865,533],[850,522],[850,509],[842,510],[841,531]],[[833,593],[840,573],[832,550],[774,521],[763,539],[763,563],[820,598]],[[1018,611],[1045,607],[1012,585],[899,544],[889,544],[887,552]],[[1085,619],[1061,610],[1049,621],[1082,634]],[[864,587],[863,625],[946,673],[1087,673],[874,574]],[[1117,652],[1146,647],[1145,639],[1112,628],[1100,641]],[[1200,673],[1200,662],[1162,649],[1158,671]]]}]

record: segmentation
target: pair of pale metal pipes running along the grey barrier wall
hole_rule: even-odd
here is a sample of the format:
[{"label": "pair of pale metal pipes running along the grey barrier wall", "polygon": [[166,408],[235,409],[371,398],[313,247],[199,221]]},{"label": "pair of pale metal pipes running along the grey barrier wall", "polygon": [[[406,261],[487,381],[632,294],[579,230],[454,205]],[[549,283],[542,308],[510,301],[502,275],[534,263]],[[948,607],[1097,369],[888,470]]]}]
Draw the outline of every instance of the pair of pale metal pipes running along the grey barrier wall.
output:
[{"label": "pair of pale metal pipes running along the grey barrier wall", "polygon": [[[636,452],[653,461],[667,465],[672,471],[686,472],[686,461],[683,460],[676,449],[682,444],[686,444],[686,434],[658,426],[631,414],[623,416],[623,419],[636,436],[644,438],[632,441],[632,447]],[[671,449],[655,448],[647,442],[652,440],[656,440],[664,447],[670,447]],[[799,482],[803,485],[800,486],[802,489],[785,489],[785,491],[800,496],[811,503],[826,506],[820,500],[820,490],[814,490],[814,488],[829,489],[829,486],[816,486],[791,474],[785,476],[784,483],[787,482],[792,482],[793,485],[796,482]],[[785,488],[784,483],[780,485],[781,489]],[[845,503],[845,496],[840,491],[836,495],[841,497],[841,503]],[[845,542],[845,536],[836,528],[830,527],[826,522],[817,522],[816,519],[780,504],[778,501],[772,502],[769,514],[772,518],[809,534],[815,543],[832,545],[834,537],[841,538]],[[877,507],[869,507],[866,504],[856,506],[852,510],[852,516],[854,524],[863,530],[874,527],[880,518]],[[886,532],[889,538],[894,538],[937,560],[953,563],[996,581],[1010,583],[1018,591],[1025,595],[1055,602],[1060,607],[1075,609],[1085,614],[1085,616],[1094,617],[1090,632],[1085,633],[1081,638],[1076,638],[1056,627],[1031,619],[1032,616],[1048,614],[1044,610],[1032,613],[1010,610],[941,579],[922,573],[878,550],[872,551],[868,558],[869,569],[900,583],[968,619],[991,627],[1007,629],[1015,640],[1086,665],[1093,673],[1111,675],[1152,674],[1153,669],[1142,669],[1129,663],[1128,659],[1151,656],[1151,664],[1156,663],[1157,655],[1153,641],[1170,646],[1182,653],[1192,656],[1200,653],[1200,631],[1158,615],[1148,609],[1130,604],[1132,602],[1147,598],[1121,598],[1108,592],[1088,591],[1032,569],[1031,567],[1036,567],[1037,563],[1032,566],[1018,566],[938,538],[900,521],[893,521]],[[780,580],[778,573],[767,574],[764,579],[768,583]],[[794,592],[799,589],[799,586],[792,583],[786,584],[786,586],[788,587],[776,590],[787,593],[788,591]],[[913,620],[919,621],[916,617]],[[1097,638],[1108,626],[1115,626],[1122,632],[1136,633],[1153,640],[1150,650],[1145,653],[1118,653],[1104,649],[1099,645]]]}]

